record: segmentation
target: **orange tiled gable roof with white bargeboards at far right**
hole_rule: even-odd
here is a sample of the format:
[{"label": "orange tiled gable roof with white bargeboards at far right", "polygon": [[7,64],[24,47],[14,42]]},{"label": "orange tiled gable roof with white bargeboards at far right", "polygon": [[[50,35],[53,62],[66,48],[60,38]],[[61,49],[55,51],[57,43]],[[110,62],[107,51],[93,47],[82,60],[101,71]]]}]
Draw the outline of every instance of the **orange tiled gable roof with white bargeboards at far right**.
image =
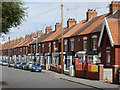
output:
[{"label": "orange tiled gable roof with white bargeboards at far right", "polygon": [[100,46],[101,44],[105,26],[106,26],[106,30],[108,33],[111,46],[120,45],[120,36],[119,36],[120,18],[119,17],[120,17],[120,10],[117,10],[114,14],[104,19],[104,25],[100,34],[98,46]]}]

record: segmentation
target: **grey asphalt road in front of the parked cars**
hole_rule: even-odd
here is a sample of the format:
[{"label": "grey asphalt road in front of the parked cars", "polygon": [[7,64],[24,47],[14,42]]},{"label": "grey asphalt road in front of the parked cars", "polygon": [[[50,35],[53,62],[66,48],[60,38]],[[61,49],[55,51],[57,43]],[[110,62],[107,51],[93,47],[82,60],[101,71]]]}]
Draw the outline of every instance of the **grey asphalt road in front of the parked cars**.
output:
[{"label": "grey asphalt road in front of the parked cars", "polygon": [[86,88],[86,90],[95,90],[95,88],[62,80],[43,72],[30,72],[7,66],[0,66],[0,68],[2,68],[2,88]]}]

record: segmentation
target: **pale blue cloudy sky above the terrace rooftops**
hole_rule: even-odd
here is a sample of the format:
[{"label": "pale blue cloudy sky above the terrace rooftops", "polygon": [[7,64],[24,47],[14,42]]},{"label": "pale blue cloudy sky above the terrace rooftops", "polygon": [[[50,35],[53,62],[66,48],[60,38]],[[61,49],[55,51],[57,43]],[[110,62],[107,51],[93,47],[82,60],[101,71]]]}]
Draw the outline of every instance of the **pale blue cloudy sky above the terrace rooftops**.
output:
[{"label": "pale blue cloudy sky above the terrace rooftops", "polygon": [[[83,1],[83,0],[82,0]],[[104,1],[104,2],[102,2]],[[88,9],[96,9],[98,16],[109,12],[109,4],[111,0],[24,0],[25,7],[28,7],[28,17],[23,23],[16,27],[11,28],[10,32],[2,34],[0,41],[2,43],[11,40],[25,37],[27,34],[42,30],[45,32],[46,26],[52,26],[54,30],[55,23],[61,20],[61,8],[63,3],[63,26],[66,27],[68,18],[75,18],[77,23],[86,19],[86,12]]]}]

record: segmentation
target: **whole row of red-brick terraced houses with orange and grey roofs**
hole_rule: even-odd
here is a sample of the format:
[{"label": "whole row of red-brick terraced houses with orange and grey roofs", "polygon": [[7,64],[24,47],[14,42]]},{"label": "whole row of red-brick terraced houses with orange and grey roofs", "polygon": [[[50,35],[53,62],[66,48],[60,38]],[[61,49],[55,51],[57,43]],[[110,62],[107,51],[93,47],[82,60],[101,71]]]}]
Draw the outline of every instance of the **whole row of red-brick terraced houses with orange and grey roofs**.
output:
[{"label": "whole row of red-brick terraced houses with orange and grey roofs", "polygon": [[[63,28],[65,74],[117,81],[119,66],[116,65],[120,65],[119,17],[120,2],[112,1],[109,13],[97,16],[96,10],[88,9],[85,20],[76,23],[74,18],[68,19],[67,27]],[[37,32],[37,37],[33,33],[17,40],[5,43],[3,57],[8,57],[10,49],[10,56],[17,55],[19,61],[36,60],[44,69],[61,72],[61,23],[56,23],[54,31],[50,26],[46,27],[44,34]]]}]

